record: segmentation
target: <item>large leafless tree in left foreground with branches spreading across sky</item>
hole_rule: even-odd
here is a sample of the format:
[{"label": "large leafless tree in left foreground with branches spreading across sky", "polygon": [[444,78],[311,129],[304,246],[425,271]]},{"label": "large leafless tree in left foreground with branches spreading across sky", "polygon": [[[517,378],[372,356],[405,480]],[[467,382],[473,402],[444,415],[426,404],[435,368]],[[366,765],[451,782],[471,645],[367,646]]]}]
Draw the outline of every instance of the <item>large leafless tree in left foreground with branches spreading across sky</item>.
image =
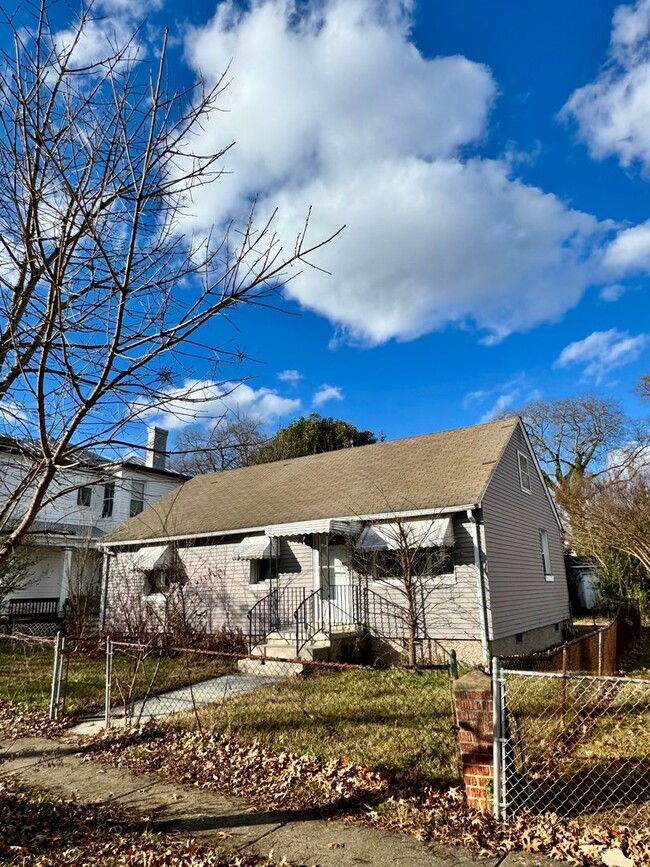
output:
[{"label": "large leafless tree in left foreground with branches spreading across sky", "polygon": [[[5,17],[0,56],[0,418],[28,441],[25,470],[0,505],[0,564],[88,449],[171,397],[191,356],[218,361],[205,328],[242,304],[274,303],[291,266],[321,244],[307,222],[285,251],[273,218],[188,234],[192,192],[221,172],[199,151],[226,82],[166,87],[167,41],[149,63],[137,34],[85,57],[92,3],[57,34],[49,4]],[[177,381],[177,378],[179,381]]]}]

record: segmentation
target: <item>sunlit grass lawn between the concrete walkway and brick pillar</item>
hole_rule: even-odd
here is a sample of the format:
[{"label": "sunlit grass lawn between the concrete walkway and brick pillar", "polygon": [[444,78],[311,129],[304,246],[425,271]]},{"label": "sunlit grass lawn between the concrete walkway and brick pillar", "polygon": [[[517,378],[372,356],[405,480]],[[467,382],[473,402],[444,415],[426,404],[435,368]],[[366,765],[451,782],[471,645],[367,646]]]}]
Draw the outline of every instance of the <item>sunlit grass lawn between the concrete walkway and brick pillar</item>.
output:
[{"label": "sunlit grass lawn between the concrete walkway and brick pillar", "polygon": [[[280,751],[347,759],[443,784],[458,779],[444,672],[303,674],[208,705],[199,716],[204,730],[234,733]],[[193,720],[186,715],[182,723]]]}]

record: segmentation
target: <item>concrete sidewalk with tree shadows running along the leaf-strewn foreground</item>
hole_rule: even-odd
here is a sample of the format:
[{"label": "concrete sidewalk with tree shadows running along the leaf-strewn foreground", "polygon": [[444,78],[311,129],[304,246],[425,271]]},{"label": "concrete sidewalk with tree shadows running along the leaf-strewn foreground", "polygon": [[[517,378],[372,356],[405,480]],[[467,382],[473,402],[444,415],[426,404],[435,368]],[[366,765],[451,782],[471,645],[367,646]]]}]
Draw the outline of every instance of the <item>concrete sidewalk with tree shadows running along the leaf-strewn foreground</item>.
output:
[{"label": "concrete sidewalk with tree shadows running along the leaf-strewn foreground", "polygon": [[24,738],[0,747],[0,779],[13,776],[84,803],[110,803],[156,830],[175,830],[204,843],[236,851],[285,858],[292,865],[318,867],[549,867],[546,858],[510,853],[479,858],[456,847],[425,844],[375,828],[323,820],[313,814],[261,811],[245,801],[168,783],[156,775],[135,775],[84,759],[75,742]]}]

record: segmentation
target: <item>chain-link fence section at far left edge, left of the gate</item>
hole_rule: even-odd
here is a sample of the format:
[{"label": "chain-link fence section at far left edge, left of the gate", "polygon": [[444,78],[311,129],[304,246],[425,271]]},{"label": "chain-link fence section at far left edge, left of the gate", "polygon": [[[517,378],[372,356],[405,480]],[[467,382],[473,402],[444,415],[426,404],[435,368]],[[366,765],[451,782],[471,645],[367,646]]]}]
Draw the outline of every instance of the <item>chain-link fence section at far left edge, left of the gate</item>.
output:
[{"label": "chain-link fence section at far left edge, left of the gate", "polygon": [[0,699],[47,711],[52,698],[55,638],[0,635]]}]

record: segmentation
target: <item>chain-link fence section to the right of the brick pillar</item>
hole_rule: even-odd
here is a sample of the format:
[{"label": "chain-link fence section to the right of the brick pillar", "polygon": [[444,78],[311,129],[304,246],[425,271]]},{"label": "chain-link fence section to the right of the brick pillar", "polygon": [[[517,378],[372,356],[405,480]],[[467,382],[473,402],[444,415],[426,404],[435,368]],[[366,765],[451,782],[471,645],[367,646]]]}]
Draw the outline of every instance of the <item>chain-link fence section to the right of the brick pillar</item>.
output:
[{"label": "chain-link fence section to the right of the brick pillar", "polygon": [[650,825],[650,680],[519,671],[497,680],[506,817],[526,809]]}]

